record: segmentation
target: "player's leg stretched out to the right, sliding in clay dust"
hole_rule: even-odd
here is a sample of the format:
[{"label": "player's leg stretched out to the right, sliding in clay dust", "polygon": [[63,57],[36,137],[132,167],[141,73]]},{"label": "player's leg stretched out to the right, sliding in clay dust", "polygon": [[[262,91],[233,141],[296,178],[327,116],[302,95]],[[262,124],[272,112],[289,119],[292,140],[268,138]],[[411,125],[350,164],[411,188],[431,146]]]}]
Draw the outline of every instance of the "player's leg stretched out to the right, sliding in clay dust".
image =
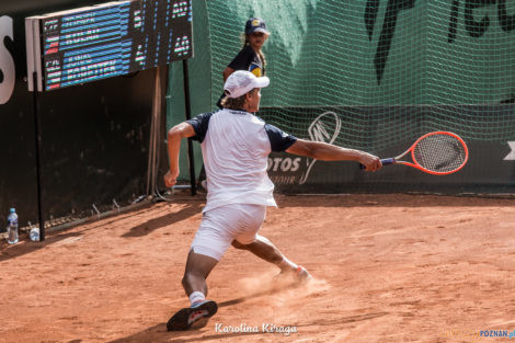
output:
[{"label": "player's leg stretched out to the right, sliding in clay dust", "polygon": [[281,268],[282,274],[291,274],[299,282],[311,279],[311,275],[304,266],[289,261],[266,237],[258,235],[255,241],[250,244],[242,244],[237,240],[233,240],[232,247],[236,249],[248,250],[258,258],[277,265]]}]

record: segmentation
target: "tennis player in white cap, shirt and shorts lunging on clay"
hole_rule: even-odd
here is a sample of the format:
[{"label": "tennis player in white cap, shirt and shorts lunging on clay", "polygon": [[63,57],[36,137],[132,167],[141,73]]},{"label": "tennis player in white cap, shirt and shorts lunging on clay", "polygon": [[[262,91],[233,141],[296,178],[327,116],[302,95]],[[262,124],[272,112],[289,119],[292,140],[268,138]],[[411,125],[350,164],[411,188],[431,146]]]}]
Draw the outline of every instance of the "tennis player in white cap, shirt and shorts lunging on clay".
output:
[{"label": "tennis player in white cap, shirt and shorts lunging on clay", "polygon": [[252,113],[260,108],[260,89],[268,83],[267,77],[234,71],[224,85],[222,110],[199,114],[168,133],[170,170],[164,175],[167,186],[174,185],[179,175],[181,140],[192,137],[202,146],[208,190],[202,222],[193,239],[182,279],[191,307],[170,318],[169,331],[203,328],[216,313],[217,304],[206,299],[206,278],[231,244],[277,265],[282,274],[293,275],[298,282],[311,278],[306,268],[289,261],[270,240],[258,235],[266,207],[276,206],[274,184],[266,173],[267,157],[272,151],[325,161],[357,161],[367,171],[382,167],[376,156],[299,139],[254,116]]}]

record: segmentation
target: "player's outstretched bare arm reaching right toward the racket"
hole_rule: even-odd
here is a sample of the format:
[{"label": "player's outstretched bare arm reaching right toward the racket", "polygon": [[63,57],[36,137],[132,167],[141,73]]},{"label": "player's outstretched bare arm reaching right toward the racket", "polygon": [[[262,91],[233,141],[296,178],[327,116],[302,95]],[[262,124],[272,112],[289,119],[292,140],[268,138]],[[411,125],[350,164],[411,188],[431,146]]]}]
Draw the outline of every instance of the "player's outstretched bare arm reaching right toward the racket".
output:
[{"label": "player's outstretched bare arm reaching right toward the racket", "polygon": [[364,164],[368,171],[376,171],[382,167],[379,158],[374,155],[360,150],[337,147],[322,141],[297,139],[285,151],[322,161],[356,161]]}]

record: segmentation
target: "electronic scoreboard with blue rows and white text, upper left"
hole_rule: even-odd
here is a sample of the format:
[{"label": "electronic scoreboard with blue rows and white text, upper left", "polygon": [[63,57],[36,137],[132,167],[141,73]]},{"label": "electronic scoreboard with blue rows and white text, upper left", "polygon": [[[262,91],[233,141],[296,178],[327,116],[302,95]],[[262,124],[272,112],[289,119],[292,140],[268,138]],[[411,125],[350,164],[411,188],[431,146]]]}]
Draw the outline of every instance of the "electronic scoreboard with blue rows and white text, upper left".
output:
[{"label": "electronic scoreboard with blue rows and white text, upper left", "polygon": [[60,89],[192,57],[191,1],[125,0],[26,18],[28,90]]}]

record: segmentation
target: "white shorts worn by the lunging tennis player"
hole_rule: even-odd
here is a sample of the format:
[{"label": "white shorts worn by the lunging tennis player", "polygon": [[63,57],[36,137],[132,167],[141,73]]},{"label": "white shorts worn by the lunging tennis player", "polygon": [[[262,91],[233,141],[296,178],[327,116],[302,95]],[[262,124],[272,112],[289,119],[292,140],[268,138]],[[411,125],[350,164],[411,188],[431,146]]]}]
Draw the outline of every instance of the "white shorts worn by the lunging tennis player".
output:
[{"label": "white shorts worn by the lunging tennis player", "polygon": [[232,204],[209,209],[193,239],[193,252],[220,261],[232,240],[241,244],[254,242],[265,216],[263,205]]}]

